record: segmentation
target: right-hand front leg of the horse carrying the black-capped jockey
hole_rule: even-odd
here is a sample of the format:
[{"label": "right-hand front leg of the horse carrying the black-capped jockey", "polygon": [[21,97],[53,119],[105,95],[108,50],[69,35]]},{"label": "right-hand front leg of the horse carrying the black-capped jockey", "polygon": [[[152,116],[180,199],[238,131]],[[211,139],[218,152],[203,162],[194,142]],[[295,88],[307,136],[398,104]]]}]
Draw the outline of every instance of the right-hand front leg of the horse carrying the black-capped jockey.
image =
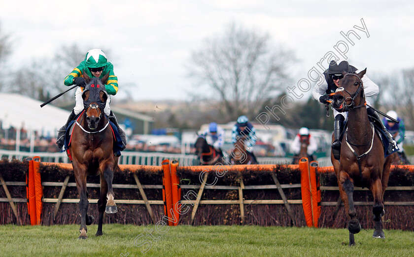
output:
[{"label": "right-hand front leg of the horse carrying the black-capped jockey", "polygon": [[374,195],[374,206],[372,212],[374,213],[374,234],[372,237],[385,239],[384,231],[382,231],[382,220],[381,217],[384,215],[384,205],[382,198],[382,183],[378,178],[371,186],[371,192]]}]

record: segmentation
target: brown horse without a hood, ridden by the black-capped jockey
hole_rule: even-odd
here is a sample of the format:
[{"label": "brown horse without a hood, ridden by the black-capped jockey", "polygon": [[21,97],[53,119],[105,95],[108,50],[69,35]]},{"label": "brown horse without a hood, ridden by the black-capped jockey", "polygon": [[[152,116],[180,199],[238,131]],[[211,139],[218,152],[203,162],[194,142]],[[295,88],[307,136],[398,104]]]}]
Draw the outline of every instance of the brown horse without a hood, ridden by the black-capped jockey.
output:
[{"label": "brown horse without a hood, ridden by the black-capped jockey", "polygon": [[385,238],[381,217],[384,215],[383,195],[388,184],[393,155],[384,158],[380,137],[368,120],[362,77],[367,69],[344,72],[332,106],[339,112],[348,110],[348,123],[341,146],[340,161],[331,152],[331,161],[338,178],[339,192],[348,213],[349,245],[355,245],[354,234],[361,230],[353,201],[354,186],[368,188],[374,196],[374,238]]}]

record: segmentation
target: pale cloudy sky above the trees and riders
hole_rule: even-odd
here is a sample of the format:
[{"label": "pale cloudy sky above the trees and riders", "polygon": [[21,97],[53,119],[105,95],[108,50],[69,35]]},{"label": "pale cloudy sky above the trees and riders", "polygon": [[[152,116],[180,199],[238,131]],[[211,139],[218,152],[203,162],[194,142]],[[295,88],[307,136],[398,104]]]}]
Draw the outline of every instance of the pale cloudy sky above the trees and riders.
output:
[{"label": "pale cloudy sky above the trees and riders", "polygon": [[[299,59],[292,68],[296,83],[341,40],[348,61],[368,67],[367,74],[414,67],[413,1],[332,2],[0,0],[0,23],[14,46],[10,67],[52,58],[64,44],[77,43],[85,53],[110,49],[120,93],[136,85],[136,100],[185,99],[194,89],[185,68],[190,53],[230,22],[267,32],[272,44],[293,50]],[[354,27],[363,28],[361,19],[369,37]],[[341,35],[349,30],[360,36],[350,35],[353,46]]]}]

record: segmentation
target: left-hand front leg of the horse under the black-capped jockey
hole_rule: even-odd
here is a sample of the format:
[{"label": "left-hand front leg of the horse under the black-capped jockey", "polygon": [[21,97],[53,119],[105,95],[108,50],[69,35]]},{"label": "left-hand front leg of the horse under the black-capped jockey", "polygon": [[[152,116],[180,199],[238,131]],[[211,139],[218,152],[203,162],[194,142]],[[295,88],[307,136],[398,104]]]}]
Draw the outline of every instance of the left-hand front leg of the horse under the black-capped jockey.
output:
[{"label": "left-hand front leg of the horse under the black-capped jockey", "polygon": [[[342,188],[341,197],[345,204],[345,211],[347,209],[349,215],[348,230],[349,230],[349,245],[355,245],[354,234],[357,234],[361,231],[361,225],[359,224],[358,219],[356,218],[356,209],[353,202],[353,191],[354,185],[349,179],[349,175],[346,172],[340,172],[339,184]],[[341,192],[341,191],[340,191]],[[347,205],[347,206],[346,206]],[[347,207],[347,208],[346,208]]]}]

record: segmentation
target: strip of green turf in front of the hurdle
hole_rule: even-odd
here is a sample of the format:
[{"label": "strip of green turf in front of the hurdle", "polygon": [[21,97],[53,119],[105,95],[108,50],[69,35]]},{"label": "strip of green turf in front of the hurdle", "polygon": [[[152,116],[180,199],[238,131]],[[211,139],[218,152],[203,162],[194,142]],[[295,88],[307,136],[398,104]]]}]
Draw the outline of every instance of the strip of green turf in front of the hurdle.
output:
[{"label": "strip of green turf in front of the hurdle", "polygon": [[0,256],[139,256],[145,246],[135,246],[134,239],[140,234],[136,244],[151,242],[147,256],[414,256],[414,232],[400,230],[385,230],[384,240],[372,238],[371,229],[362,230],[355,235],[356,246],[349,247],[346,229],[179,225],[158,241],[144,231],[155,225],[104,225],[101,237],[95,236],[97,225],[91,225],[86,240],[77,239],[78,229],[0,226]]}]

